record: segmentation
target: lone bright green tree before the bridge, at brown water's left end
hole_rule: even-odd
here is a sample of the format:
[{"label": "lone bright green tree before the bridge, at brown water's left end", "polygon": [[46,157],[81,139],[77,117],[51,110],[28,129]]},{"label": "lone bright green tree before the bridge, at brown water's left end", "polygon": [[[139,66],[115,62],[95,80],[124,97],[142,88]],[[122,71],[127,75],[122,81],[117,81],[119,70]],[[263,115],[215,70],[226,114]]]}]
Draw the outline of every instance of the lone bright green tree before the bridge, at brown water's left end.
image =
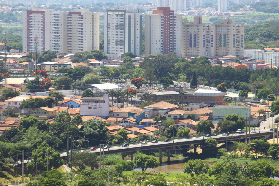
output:
[{"label": "lone bright green tree before the bridge, at brown water's left end", "polygon": [[144,173],[147,168],[156,168],[159,165],[160,162],[153,156],[148,156],[141,152],[137,152],[134,155],[134,168],[142,168],[142,173]]}]

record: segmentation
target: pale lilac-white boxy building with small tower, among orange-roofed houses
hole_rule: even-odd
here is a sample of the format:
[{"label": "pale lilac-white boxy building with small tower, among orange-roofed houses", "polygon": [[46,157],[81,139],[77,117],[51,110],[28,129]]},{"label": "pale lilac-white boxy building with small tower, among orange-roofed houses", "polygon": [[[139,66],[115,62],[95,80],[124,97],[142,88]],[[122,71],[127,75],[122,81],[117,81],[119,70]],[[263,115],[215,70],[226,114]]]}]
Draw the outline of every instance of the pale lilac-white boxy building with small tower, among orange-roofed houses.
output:
[{"label": "pale lilac-white boxy building with small tower, among orange-roofed houses", "polygon": [[82,116],[109,116],[109,95],[103,97],[83,97],[80,99],[80,115]]}]

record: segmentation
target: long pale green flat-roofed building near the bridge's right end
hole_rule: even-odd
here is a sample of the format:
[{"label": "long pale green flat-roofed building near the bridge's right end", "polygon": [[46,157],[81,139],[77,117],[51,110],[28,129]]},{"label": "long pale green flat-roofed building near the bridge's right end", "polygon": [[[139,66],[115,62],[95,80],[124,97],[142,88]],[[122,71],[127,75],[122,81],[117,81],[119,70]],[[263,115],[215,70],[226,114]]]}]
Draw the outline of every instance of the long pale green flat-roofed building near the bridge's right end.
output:
[{"label": "long pale green flat-roofed building near the bridge's right end", "polygon": [[251,106],[213,106],[213,120],[224,120],[225,117],[229,114],[250,117]]}]

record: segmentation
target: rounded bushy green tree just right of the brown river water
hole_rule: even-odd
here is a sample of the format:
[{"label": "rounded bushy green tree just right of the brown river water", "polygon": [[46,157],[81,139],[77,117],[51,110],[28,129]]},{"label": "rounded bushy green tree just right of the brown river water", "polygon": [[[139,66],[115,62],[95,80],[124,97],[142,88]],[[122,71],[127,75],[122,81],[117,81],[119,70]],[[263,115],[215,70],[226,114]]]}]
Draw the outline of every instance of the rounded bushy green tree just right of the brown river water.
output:
[{"label": "rounded bushy green tree just right of the brown river water", "polygon": [[183,167],[183,172],[187,174],[194,172],[196,175],[199,175],[199,174],[206,174],[208,169],[209,169],[208,163],[204,163],[200,159],[195,159],[195,160],[189,160],[187,163],[185,163]]}]

